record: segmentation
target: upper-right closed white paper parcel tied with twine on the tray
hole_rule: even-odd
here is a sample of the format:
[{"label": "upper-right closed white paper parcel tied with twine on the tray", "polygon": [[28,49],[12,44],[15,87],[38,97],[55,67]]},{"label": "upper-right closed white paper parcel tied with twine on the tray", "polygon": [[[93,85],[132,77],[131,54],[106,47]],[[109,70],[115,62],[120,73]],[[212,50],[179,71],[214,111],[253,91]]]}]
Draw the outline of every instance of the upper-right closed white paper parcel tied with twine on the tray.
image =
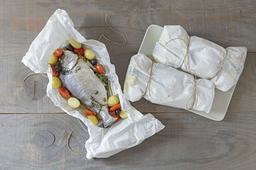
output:
[{"label": "upper-right closed white paper parcel tied with twine on the tray", "polygon": [[154,48],[154,58],[168,66],[193,70],[196,76],[214,81],[226,92],[235,85],[246,59],[246,47],[223,48],[216,43],[189,36],[179,25],[166,25]]}]

